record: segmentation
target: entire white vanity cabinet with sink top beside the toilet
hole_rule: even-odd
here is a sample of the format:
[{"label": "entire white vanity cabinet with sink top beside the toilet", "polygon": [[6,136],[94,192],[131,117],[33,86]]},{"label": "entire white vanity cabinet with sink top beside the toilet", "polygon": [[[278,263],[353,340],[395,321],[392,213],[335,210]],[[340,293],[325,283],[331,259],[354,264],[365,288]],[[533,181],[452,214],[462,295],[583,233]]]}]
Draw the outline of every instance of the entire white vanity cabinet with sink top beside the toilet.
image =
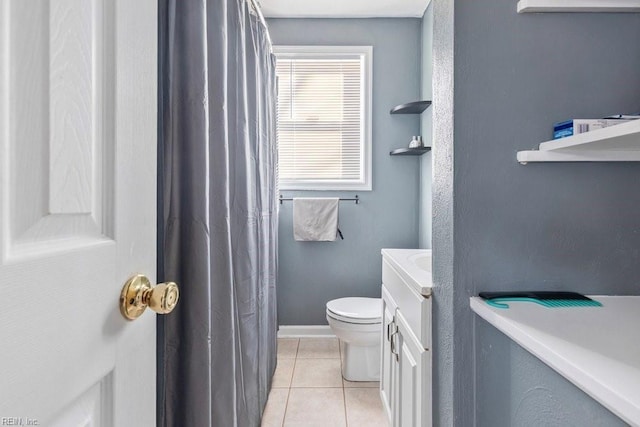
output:
[{"label": "entire white vanity cabinet with sink top beside the toilet", "polygon": [[393,427],[431,426],[432,282],[425,268],[431,253],[383,249],[382,255],[383,406]]}]

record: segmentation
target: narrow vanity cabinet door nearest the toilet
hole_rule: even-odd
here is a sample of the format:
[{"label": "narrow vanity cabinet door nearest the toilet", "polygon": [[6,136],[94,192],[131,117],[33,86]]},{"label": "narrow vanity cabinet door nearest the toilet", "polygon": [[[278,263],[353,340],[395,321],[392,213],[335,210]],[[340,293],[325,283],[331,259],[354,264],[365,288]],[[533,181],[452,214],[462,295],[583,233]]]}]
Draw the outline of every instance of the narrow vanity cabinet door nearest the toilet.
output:
[{"label": "narrow vanity cabinet door nearest the toilet", "polygon": [[[397,371],[398,362],[396,356],[391,349],[391,335],[395,332],[396,326],[393,321],[395,313],[395,304],[393,299],[386,291],[385,287],[382,287],[382,354],[380,357],[382,367],[380,376],[380,397],[382,398],[382,405],[387,414],[387,418],[392,425],[397,425],[394,422],[394,414],[396,408],[397,399],[394,398],[397,395]],[[396,339],[396,342],[397,339]]]}]

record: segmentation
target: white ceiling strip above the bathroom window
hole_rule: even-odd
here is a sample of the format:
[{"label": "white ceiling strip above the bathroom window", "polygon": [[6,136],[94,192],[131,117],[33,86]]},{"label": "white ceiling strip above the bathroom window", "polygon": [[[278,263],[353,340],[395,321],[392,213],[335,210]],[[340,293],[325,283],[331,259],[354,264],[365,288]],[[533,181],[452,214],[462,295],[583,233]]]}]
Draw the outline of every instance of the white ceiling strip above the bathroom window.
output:
[{"label": "white ceiling strip above the bathroom window", "polygon": [[259,0],[267,18],[421,18],[431,0]]}]

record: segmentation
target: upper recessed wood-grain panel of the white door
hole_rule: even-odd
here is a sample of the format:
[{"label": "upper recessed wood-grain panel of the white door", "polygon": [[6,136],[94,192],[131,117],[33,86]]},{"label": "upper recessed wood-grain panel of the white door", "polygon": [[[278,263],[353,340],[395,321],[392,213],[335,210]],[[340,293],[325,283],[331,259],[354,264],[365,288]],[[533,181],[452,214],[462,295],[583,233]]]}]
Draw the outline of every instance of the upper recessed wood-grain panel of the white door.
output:
[{"label": "upper recessed wood-grain panel of the white door", "polygon": [[3,6],[5,259],[112,238],[113,2]]}]

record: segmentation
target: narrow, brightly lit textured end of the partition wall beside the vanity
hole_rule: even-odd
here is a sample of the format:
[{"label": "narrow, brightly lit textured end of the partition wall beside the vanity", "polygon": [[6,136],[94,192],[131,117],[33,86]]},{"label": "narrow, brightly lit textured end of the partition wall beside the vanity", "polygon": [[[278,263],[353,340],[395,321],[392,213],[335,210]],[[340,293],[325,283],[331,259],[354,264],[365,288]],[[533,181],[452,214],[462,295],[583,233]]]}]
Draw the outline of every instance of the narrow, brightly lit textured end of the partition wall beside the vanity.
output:
[{"label": "narrow, brightly lit textured end of the partition wall beside the vanity", "polygon": [[[453,267],[453,0],[433,0],[433,424],[472,426],[473,401],[462,400],[473,387],[454,387],[465,381],[454,375],[454,345],[467,345],[470,333],[456,333],[454,313],[465,308],[454,299]],[[454,342],[455,338],[455,342]],[[469,340],[469,341],[467,341]],[[460,354],[460,351],[457,352]],[[467,369],[467,375],[472,375]],[[467,377],[466,381],[470,381]],[[468,391],[467,391],[468,390]],[[457,395],[455,392],[458,391]],[[464,416],[464,418],[463,418]]]}]

